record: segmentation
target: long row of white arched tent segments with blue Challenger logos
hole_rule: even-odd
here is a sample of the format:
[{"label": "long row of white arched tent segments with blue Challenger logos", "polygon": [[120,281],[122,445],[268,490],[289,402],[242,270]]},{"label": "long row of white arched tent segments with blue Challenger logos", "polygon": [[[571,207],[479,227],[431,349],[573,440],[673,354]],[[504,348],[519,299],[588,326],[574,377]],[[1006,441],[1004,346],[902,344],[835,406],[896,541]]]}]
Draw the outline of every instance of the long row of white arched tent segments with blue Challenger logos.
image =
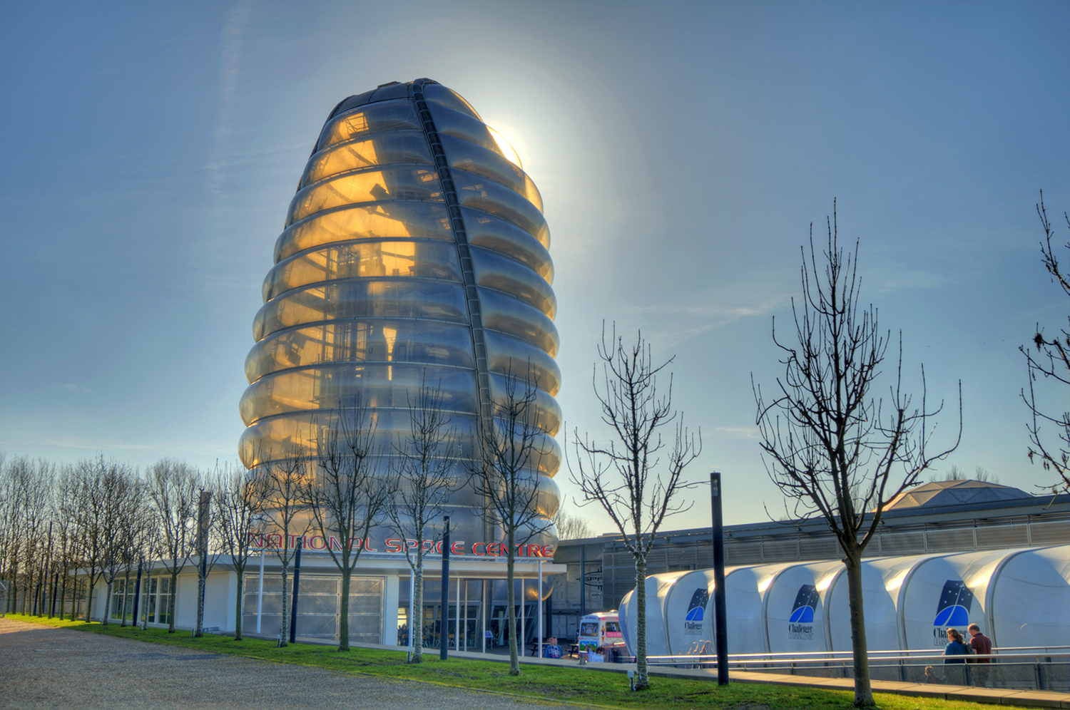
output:
[{"label": "long row of white arched tent segments with blue Challenger logos", "polygon": [[[843,572],[839,561],[728,568],[729,653],[851,650]],[[710,652],[713,571],[655,574],[646,585],[647,653]],[[871,650],[942,649],[948,627],[969,623],[995,646],[1061,646],[1070,638],[1070,545],[869,559],[862,593]],[[632,591],[621,605],[632,652],[633,600]]]}]

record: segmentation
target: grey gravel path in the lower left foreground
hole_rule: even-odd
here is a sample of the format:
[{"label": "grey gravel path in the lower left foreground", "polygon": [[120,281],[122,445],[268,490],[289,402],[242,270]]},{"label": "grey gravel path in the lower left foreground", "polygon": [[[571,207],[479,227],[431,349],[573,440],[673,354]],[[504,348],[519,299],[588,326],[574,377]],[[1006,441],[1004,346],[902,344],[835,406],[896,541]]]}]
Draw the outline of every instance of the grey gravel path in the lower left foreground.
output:
[{"label": "grey gravel path in the lower left foreground", "polygon": [[523,710],[563,707],[350,676],[0,618],[0,707],[11,709]]}]

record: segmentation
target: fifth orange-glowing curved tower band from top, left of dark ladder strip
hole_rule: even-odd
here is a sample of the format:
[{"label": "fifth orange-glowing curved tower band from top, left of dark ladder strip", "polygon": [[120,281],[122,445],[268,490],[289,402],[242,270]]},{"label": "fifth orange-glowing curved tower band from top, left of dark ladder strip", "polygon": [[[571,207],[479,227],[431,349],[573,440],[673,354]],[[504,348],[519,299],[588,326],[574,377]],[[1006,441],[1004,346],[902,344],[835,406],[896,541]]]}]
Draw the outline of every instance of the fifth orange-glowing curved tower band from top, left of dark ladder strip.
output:
[{"label": "fifth orange-glowing curved tower band from top, left of dark ladder strip", "polygon": [[350,242],[303,251],[268,272],[264,300],[290,289],[347,278],[408,276],[460,281],[457,248],[447,242]]}]

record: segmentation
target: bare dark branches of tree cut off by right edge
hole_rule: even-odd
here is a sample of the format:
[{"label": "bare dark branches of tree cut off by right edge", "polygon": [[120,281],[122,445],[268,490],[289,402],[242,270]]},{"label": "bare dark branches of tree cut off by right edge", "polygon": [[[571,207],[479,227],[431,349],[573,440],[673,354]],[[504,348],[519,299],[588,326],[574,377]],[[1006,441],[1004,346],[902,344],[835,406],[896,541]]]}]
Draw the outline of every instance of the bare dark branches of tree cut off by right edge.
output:
[{"label": "bare dark branches of tree cut off by right edge", "polygon": [[[1055,230],[1048,220],[1048,213],[1044,212],[1043,192],[1040,194],[1040,202],[1037,204],[1037,215],[1044,230],[1044,240],[1040,243],[1044,269],[1048,271],[1051,280],[1058,283],[1063,294],[1070,297],[1070,272],[1063,271],[1055,256],[1055,247],[1052,245]],[[1070,216],[1064,212],[1063,218],[1067,227],[1070,227]],[[1070,249],[1070,242],[1067,242],[1064,248]],[[1029,461],[1031,463],[1034,459],[1039,459],[1044,470],[1054,470],[1059,477],[1058,482],[1052,485],[1053,491],[1059,489],[1070,491],[1070,411],[1061,413],[1058,411],[1066,406],[1070,388],[1070,315],[1067,317],[1059,333],[1051,338],[1044,335],[1043,328],[1038,323],[1033,344],[1036,352],[1026,345],[1019,348],[1025,355],[1029,372],[1029,388],[1022,390],[1022,399],[1029,407],[1030,414],[1029,423],[1026,425],[1029,432]],[[1054,390],[1055,397],[1051,397],[1050,392],[1038,395],[1035,384],[1038,377],[1043,377],[1050,383],[1050,389]],[[1044,432],[1041,435],[1041,429],[1045,426],[1051,426],[1055,433]]]}]

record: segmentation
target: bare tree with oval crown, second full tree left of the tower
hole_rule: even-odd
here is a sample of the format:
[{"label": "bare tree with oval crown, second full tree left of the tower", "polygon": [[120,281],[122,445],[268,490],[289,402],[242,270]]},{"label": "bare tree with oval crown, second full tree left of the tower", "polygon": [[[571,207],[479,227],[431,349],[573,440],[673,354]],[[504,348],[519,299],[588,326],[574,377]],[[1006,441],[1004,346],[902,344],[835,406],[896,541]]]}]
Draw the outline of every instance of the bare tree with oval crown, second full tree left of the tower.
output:
[{"label": "bare tree with oval crown, second full tree left of the tower", "polygon": [[162,562],[170,575],[167,631],[174,633],[179,573],[189,561],[197,538],[197,472],[185,462],[163,459],[149,469],[148,485],[163,538]]}]

